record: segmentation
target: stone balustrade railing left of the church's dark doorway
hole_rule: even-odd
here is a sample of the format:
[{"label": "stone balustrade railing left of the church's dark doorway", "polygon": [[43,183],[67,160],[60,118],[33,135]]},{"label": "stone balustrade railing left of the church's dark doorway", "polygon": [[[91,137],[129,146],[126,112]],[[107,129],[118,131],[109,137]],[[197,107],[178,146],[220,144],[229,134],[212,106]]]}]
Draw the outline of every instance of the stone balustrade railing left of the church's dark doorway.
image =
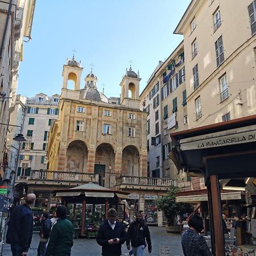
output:
[{"label": "stone balustrade railing left of the church's dark doorway", "polygon": [[30,176],[17,176],[17,180],[44,180],[44,181],[75,181],[98,183],[97,174],[82,172],[60,172],[31,170]]}]

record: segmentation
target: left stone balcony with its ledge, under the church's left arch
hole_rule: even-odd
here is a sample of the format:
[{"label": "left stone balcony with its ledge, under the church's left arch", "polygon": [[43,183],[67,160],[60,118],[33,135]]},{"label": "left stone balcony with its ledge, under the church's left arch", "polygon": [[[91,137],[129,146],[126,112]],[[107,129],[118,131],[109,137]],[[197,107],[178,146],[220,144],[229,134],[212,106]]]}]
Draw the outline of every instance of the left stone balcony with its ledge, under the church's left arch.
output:
[{"label": "left stone balcony with its ledge, under the church's left arch", "polygon": [[93,182],[98,183],[97,174],[87,174],[82,172],[61,172],[31,170],[30,176],[17,176],[16,181],[27,181],[29,184],[49,184],[49,185],[82,185]]}]

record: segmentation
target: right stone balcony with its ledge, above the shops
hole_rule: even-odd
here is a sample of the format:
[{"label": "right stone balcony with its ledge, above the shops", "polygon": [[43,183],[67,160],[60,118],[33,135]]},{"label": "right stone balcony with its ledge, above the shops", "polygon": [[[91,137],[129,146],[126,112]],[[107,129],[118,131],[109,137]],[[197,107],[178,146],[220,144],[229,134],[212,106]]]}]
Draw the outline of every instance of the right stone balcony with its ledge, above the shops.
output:
[{"label": "right stone balcony with its ledge, above the shops", "polygon": [[176,180],[138,176],[119,176],[115,179],[115,187],[119,188],[167,189],[170,185],[177,185]]}]

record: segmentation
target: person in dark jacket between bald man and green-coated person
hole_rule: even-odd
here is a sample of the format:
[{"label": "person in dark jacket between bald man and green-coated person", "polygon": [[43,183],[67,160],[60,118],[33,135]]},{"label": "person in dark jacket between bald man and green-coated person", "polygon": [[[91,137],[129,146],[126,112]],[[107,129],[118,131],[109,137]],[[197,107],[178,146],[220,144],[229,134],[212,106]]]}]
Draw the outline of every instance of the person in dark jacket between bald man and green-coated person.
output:
[{"label": "person in dark jacket between bald man and green-coated person", "polygon": [[38,256],[46,255],[46,245],[49,241],[49,235],[51,233],[52,222],[49,218],[49,212],[43,212],[42,225],[40,229],[40,242],[38,245]]}]

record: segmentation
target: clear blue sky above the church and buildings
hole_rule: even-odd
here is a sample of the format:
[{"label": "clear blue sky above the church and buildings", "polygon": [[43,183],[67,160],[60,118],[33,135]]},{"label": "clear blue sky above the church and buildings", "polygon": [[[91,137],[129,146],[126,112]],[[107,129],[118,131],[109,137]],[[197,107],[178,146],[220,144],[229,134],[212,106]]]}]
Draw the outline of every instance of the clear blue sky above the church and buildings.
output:
[{"label": "clear blue sky above the church and buildings", "polygon": [[165,60],[181,42],[174,35],[190,0],[38,0],[32,40],[24,43],[18,93],[32,97],[61,92],[61,72],[67,57],[82,61],[81,88],[90,72],[105,83],[107,97],[118,97],[119,83],[129,68],[139,69],[140,91],[159,60]]}]

